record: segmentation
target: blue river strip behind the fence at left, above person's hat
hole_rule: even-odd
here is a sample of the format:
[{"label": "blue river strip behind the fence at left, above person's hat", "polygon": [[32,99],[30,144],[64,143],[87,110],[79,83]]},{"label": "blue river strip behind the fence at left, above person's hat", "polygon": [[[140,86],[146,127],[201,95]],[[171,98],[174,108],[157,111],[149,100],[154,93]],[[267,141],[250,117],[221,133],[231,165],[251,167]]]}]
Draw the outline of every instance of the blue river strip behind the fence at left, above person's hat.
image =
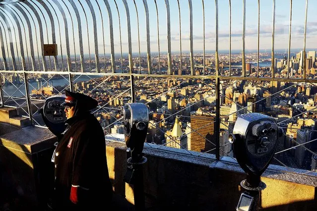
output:
[{"label": "blue river strip behind the fence at left, above person's hat", "polygon": [[[76,76],[74,76],[72,78],[72,80],[73,80],[73,83],[77,83],[77,82],[81,82],[81,81],[89,81],[89,80],[91,80],[91,78],[99,78],[101,76],[90,75],[89,77],[86,76],[86,75],[81,75],[81,76],[77,76],[76,75]],[[67,75],[65,75],[65,78],[68,79]],[[65,85],[69,84],[69,82],[66,79],[64,79],[64,78],[55,79],[55,80],[49,80],[48,82],[50,83],[50,85],[53,82],[53,86],[54,87],[56,87],[56,86],[62,86],[63,87]],[[40,87],[41,87],[41,82],[39,82],[39,84],[40,84]],[[42,80],[42,85],[43,85],[43,87],[46,87],[48,84],[44,80]],[[6,86],[2,87],[3,88],[3,95],[4,96],[11,96],[12,95],[12,97],[22,97],[23,96],[22,93],[17,91],[16,87],[19,88],[19,90],[23,94],[25,94],[25,85],[24,84],[23,85],[22,84],[15,85],[15,86],[10,84],[10,85],[6,85]],[[38,87],[38,82],[37,81],[29,83],[29,93],[30,94],[32,93],[33,89],[38,89],[38,88],[39,87]]]}]

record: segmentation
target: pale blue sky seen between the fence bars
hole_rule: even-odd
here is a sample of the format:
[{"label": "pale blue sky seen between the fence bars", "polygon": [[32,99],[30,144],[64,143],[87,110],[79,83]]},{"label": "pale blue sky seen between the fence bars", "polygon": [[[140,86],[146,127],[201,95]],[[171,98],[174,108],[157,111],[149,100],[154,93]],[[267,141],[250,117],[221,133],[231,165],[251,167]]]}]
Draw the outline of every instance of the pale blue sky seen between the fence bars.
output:
[{"label": "pale blue sky seen between the fence bars", "polygon": [[[47,3],[47,0],[44,0]],[[53,0],[56,1],[56,0]],[[57,43],[62,42],[63,53],[65,52],[65,36],[62,13],[58,7],[53,4],[54,10],[57,16],[53,12],[54,20],[56,22],[56,30],[58,30],[57,20],[59,19],[61,24],[61,38],[57,34]],[[58,0],[66,13],[66,19],[68,24],[68,33],[70,41],[70,52],[79,54],[79,42],[78,42],[78,28],[77,20],[68,0]],[[88,53],[88,35],[86,29],[86,21],[84,19],[83,9],[81,8],[78,0],[73,0],[79,13],[81,14],[82,21],[82,32],[84,41],[84,52]],[[109,38],[109,22],[108,13],[104,3],[104,0],[97,0],[103,17],[104,27],[104,39],[105,39],[105,51],[108,54],[110,52],[110,38]],[[114,43],[115,52],[120,52],[120,39],[119,39],[119,20],[116,4],[114,0],[108,0],[112,10],[113,26],[114,26]],[[116,0],[119,8],[121,18],[121,30],[122,30],[122,44],[123,52],[127,52],[127,16],[126,10],[122,0]],[[182,27],[182,50],[190,50],[189,41],[189,2],[188,0],[179,0],[181,7],[181,27]],[[88,19],[88,32],[89,32],[89,44],[90,52],[94,52],[94,39],[93,39],[93,24],[92,16],[86,3],[86,0],[80,0],[82,3],[87,19]],[[103,40],[102,40],[102,24],[101,14],[99,12],[96,0],[90,1],[96,12],[97,30],[98,30],[98,48],[99,53],[103,53]],[[146,52],[146,24],[145,24],[145,10],[143,0],[135,0],[138,9],[139,16],[139,30],[140,30],[140,49],[141,52]],[[132,39],[132,52],[138,52],[138,37],[137,37],[137,19],[136,11],[133,0],[127,0],[130,13],[130,24],[131,24],[131,39]],[[150,40],[151,40],[151,52],[156,53],[158,50],[157,45],[157,16],[154,0],[147,0],[149,9],[149,22],[150,22]],[[169,0],[170,14],[171,14],[171,47],[172,51],[180,50],[180,31],[179,31],[179,10],[178,1]],[[68,7],[70,15],[73,19],[74,36],[72,35],[71,19],[66,9]],[[167,24],[166,24],[166,5],[165,0],[157,0],[158,13],[159,13],[159,32],[160,32],[160,50],[161,52],[167,51]],[[43,7],[39,5],[40,9],[44,14],[46,12]],[[52,8],[51,6],[49,6]],[[305,24],[305,7],[306,0],[293,0],[292,6],[292,49],[303,49],[304,47],[304,24]],[[204,0],[205,8],[205,50],[213,51],[215,49],[215,1]],[[229,49],[229,0],[218,0],[219,8],[219,50]],[[243,0],[231,0],[232,8],[232,50],[242,50],[242,29],[243,29]],[[315,11],[317,8],[317,0],[309,0],[308,4],[308,20],[307,20],[307,48],[317,48],[317,19]],[[290,0],[276,0],[275,4],[276,15],[275,15],[275,49],[288,49],[288,37],[289,37],[289,15],[290,15]],[[52,10],[53,11],[53,10]],[[193,11],[193,50],[202,51],[203,49],[203,24],[202,24],[202,0],[192,0],[192,11]],[[267,49],[270,51],[272,47],[272,11],[273,11],[273,0],[260,0],[260,49]],[[18,12],[19,13],[19,12]],[[35,18],[34,18],[35,19]],[[41,16],[43,27],[45,28],[45,21]],[[51,43],[51,26],[49,18],[46,16],[45,19],[48,23],[48,35],[44,30],[45,43]],[[35,19],[35,23],[37,23]],[[33,24],[32,24],[33,25]],[[34,30],[34,28],[33,28]],[[37,30],[39,33],[39,30]],[[27,35],[28,36],[28,35]],[[73,45],[73,39],[75,45]],[[48,41],[47,41],[48,40]],[[34,44],[35,41],[34,41]],[[246,49],[252,50],[257,48],[257,0],[246,0]]]}]

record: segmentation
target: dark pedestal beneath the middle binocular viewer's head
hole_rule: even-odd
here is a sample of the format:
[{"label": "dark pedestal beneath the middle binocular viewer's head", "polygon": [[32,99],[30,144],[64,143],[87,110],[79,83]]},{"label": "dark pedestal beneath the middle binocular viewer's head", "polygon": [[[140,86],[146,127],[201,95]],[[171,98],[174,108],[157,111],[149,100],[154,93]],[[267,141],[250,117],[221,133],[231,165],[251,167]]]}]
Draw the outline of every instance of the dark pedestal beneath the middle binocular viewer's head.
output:
[{"label": "dark pedestal beneath the middle binocular viewer's head", "polygon": [[145,196],[143,185],[143,164],[147,158],[127,159],[127,172],[124,177],[125,182],[133,185],[135,211],[145,211]]}]

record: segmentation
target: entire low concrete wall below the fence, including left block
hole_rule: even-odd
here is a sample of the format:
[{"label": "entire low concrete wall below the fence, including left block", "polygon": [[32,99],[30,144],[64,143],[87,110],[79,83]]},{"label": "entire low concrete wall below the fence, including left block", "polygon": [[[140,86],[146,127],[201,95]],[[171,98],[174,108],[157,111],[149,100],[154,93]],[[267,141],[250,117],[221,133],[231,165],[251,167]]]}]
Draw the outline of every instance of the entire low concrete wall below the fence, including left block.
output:
[{"label": "entire low concrete wall below the fence, including left block", "polygon": [[[43,210],[50,189],[48,181],[54,176],[50,160],[55,141],[49,130],[33,126],[0,136],[0,190],[5,190],[0,191],[0,207],[2,201],[9,200],[19,208],[12,210]],[[148,159],[143,167],[148,210],[235,210],[242,192],[240,182],[246,175],[234,160],[216,161],[214,155],[196,157],[185,150],[157,147],[150,145],[143,150]],[[106,150],[115,193],[134,204],[133,186],[123,180],[126,144],[107,143]],[[267,188],[261,192],[261,208],[316,210],[317,177],[287,170],[270,165],[264,172],[262,181]]]}]

